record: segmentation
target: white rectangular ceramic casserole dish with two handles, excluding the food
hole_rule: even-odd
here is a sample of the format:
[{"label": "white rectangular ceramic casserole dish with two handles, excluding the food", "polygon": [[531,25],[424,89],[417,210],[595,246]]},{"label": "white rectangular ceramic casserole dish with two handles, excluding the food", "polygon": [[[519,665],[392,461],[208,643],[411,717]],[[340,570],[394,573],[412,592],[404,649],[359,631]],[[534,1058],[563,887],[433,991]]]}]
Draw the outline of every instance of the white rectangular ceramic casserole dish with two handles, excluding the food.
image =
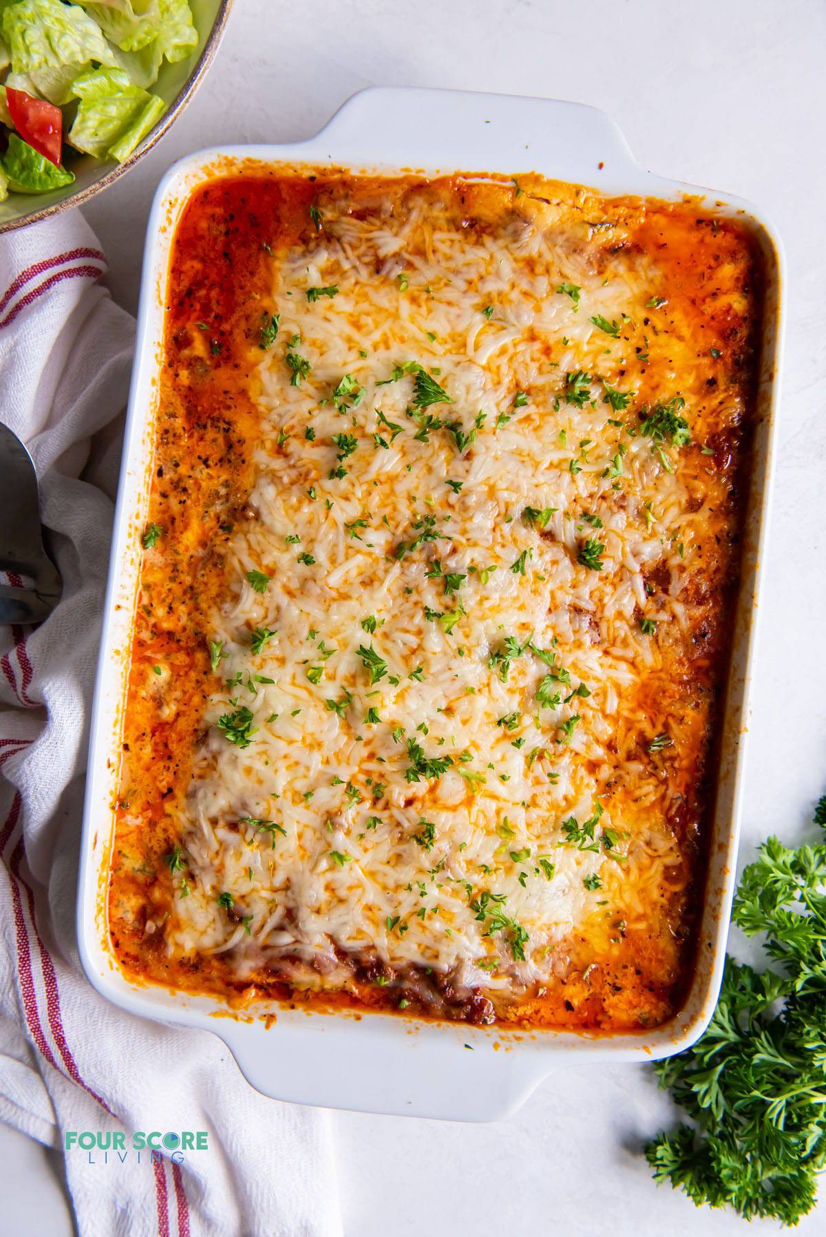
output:
[{"label": "white rectangular ceramic casserole dish with two handles, excluding the food", "polygon": [[[759,406],[744,538],[742,585],[725,710],[720,776],[697,962],[688,1001],[643,1034],[587,1037],[415,1022],[401,1017],[307,1013],[277,1007],[267,1028],[228,1016],[214,999],[136,985],[108,946],[105,882],[117,798],[119,743],[130,628],[140,569],[138,537],[148,501],[152,416],[161,364],[169,247],[181,209],[220,161],[255,158],[344,165],[352,169],[534,171],[603,194],[679,199],[699,194],[721,215],[749,223],[767,272]],[[231,169],[231,168],[230,168]],[[89,748],[78,892],[80,956],[92,983],[124,1009],[219,1035],[250,1082],[279,1100],[368,1112],[483,1121],[514,1110],[560,1058],[652,1060],[680,1051],[713,1011],[725,959],[742,805],[754,617],[770,485],[772,437],[781,346],[783,256],[770,224],[736,198],[710,194],[643,171],[612,121],[581,104],[448,90],[371,89],[344,105],[326,129],[291,146],[206,150],[176,163],[155,197],[132,375],[109,590]],[[470,1050],[469,1050],[470,1049]]]}]

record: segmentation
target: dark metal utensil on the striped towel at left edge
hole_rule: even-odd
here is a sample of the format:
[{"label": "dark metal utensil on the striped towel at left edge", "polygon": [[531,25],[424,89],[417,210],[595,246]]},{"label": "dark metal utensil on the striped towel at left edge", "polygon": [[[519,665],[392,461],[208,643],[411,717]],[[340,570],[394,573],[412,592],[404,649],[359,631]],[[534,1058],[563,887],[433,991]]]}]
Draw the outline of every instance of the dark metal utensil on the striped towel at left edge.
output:
[{"label": "dark metal utensil on the striped towel at left edge", "polygon": [[0,584],[0,623],[36,623],[61,600],[59,573],[43,549],[37,473],[16,434],[0,423],[0,571],[31,584]]}]

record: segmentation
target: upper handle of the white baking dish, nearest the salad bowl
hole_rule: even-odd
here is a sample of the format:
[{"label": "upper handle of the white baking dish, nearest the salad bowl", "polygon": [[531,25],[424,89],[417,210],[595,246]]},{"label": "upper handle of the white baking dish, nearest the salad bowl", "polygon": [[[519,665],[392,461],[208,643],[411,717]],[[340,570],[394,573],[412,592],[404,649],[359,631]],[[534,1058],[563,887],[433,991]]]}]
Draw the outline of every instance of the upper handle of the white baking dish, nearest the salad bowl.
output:
[{"label": "upper handle of the white baking dish, nearest the salad bowl", "polygon": [[[618,192],[639,177],[628,143],[597,108],[465,90],[371,87],[339,109],[319,137],[343,162],[467,171],[543,171]],[[315,139],[318,141],[318,139]]]}]

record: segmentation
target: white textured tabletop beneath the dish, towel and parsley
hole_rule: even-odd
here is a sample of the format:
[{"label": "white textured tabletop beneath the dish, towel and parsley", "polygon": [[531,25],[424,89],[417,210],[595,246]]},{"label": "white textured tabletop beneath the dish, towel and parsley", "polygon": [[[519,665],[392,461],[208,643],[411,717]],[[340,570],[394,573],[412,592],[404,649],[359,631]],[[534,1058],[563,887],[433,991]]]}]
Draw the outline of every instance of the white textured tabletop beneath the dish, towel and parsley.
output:
[{"label": "white textured tabletop beneath the dish, towel and parsley", "polygon": [[[762,205],[784,239],[790,287],[744,855],[774,829],[791,839],[826,789],[825,37],[819,0],[236,0],[189,110],[88,212],[113,289],[134,309],[148,204],[174,158],[218,141],[309,136],[368,84],[592,103],[645,166]],[[634,1147],[668,1117],[647,1072],[616,1065],[560,1069],[516,1117],[491,1126],[339,1115],[345,1231],[453,1237],[516,1226],[526,1237],[591,1237],[610,1215],[621,1237],[744,1233],[734,1217],[695,1211],[650,1183]],[[70,1232],[49,1160],[2,1128],[0,1192],[4,1232]],[[822,1223],[821,1210],[798,1232]]]}]

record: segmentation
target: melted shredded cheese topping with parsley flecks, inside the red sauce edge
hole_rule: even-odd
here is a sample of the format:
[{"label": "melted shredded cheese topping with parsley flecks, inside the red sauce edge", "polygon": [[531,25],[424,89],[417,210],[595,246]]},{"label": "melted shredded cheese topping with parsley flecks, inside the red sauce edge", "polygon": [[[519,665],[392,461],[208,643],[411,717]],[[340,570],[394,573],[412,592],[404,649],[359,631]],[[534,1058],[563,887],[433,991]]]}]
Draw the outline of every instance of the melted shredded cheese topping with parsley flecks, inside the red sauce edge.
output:
[{"label": "melted shredded cheese topping with parsley flecks, inside the red sauce edge", "polygon": [[642,204],[530,188],[320,187],[272,252],[173,957],[402,1007],[435,975],[479,1021],[573,970],[587,998],[634,934],[674,982],[749,395],[710,385],[712,340],[748,250],[697,314]]}]

